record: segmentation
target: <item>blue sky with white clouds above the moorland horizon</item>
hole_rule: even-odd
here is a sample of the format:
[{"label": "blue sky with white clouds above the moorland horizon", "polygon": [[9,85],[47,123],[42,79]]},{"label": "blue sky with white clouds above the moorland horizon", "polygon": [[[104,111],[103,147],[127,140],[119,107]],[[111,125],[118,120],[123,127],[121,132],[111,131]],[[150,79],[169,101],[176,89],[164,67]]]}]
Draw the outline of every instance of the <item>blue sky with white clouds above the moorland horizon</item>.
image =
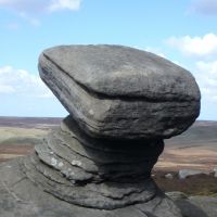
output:
[{"label": "blue sky with white clouds above the moorland horizon", "polygon": [[0,116],[66,116],[38,75],[42,50],[123,44],[190,71],[199,119],[217,120],[217,0],[0,0]]}]

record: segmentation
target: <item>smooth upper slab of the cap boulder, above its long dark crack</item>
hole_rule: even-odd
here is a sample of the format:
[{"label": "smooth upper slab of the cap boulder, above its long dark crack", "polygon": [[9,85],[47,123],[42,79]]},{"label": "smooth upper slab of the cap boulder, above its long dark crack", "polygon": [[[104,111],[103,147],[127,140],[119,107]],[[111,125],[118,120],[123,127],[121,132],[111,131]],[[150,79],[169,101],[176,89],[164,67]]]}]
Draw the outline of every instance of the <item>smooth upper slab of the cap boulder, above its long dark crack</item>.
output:
[{"label": "smooth upper slab of the cap boulder, above its long dark crack", "polygon": [[150,52],[122,46],[60,46],[43,51],[40,60],[97,94],[200,100],[197,85],[188,71]]}]

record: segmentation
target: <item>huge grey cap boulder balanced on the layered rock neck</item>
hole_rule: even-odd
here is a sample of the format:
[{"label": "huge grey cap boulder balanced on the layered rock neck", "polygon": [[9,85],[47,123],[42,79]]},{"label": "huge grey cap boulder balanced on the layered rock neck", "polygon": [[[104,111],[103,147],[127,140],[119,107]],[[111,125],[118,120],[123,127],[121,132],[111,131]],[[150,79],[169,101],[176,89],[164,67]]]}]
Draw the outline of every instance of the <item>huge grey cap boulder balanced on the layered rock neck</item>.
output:
[{"label": "huge grey cap boulder balanced on the layered rock neck", "polygon": [[39,59],[42,80],[80,127],[104,138],[169,138],[200,112],[191,74],[149,52],[120,46],[62,46]]}]

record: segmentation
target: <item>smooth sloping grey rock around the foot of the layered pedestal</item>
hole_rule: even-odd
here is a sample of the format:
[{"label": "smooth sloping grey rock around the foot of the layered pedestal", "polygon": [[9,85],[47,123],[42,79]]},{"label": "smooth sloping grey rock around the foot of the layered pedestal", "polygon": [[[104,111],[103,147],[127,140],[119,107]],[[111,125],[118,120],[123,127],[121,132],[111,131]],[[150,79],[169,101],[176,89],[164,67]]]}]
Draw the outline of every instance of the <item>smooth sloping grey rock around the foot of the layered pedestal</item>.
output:
[{"label": "smooth sloping grey rock around the foot of the layered pedestal", "polygon": [[[174,202],[159,190],[145,203],[126,205],[111,210],[67,203],[29,179],[24,162],[16,158],[0,166],[0,216],[12,217],[181,217]],[[51,188],[51,187],[50,187]]]}]

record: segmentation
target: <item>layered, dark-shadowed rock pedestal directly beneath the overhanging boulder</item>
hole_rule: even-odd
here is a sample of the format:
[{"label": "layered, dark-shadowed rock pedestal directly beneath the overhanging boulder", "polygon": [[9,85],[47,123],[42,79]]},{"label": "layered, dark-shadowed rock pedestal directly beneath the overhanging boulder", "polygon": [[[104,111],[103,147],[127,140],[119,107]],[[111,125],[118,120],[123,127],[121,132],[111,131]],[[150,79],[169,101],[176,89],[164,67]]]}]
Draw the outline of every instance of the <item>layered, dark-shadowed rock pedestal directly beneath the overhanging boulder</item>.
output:
[{"label": "layered, dark-shadowed rock pedestal directly beneath the overhanging boulder", "polygon": [[162,140],[130,140],[123,149],[126,141],[91,139],[67,117],[62,129],[36,145],[37,155],[24,159],[24,174],[54,196],[85,207],[115,209],[155,197],[158,189],[150,174]]}]

